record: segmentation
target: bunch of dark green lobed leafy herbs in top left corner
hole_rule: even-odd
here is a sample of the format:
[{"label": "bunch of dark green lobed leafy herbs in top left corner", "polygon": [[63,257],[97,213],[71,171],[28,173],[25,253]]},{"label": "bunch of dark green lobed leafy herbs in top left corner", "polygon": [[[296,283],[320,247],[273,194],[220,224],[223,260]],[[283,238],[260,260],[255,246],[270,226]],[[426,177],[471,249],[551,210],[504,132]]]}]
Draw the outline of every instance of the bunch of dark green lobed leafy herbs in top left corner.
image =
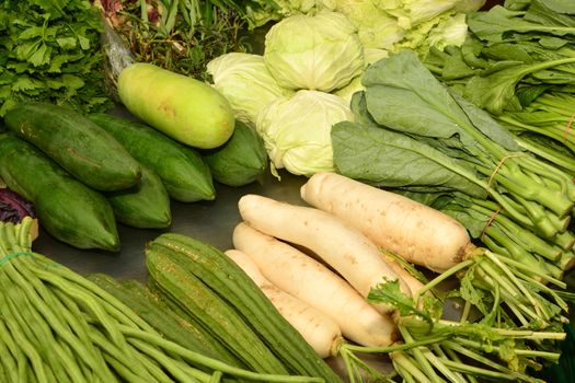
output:
[{"label": "bunch of dark green lobed leafy herbs in top left corner", "polygon": [[26,100],[108,107],[101,31],[88,0],[0,2],[0,117]]}]

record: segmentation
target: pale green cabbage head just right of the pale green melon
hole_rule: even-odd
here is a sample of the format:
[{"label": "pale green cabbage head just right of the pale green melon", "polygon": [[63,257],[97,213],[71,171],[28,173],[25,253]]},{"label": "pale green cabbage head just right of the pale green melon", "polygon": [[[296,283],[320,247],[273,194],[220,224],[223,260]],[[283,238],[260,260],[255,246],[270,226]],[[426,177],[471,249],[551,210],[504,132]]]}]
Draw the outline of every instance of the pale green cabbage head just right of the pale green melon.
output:
[{"label": "pale green cabbage head just right of the pale green melon", "polygon": [[255,125],[260,111],[277,97],[294,92],[280,88],[260,55],[229,53],[207,65],[214,86],[230,102],[235,118]]}]

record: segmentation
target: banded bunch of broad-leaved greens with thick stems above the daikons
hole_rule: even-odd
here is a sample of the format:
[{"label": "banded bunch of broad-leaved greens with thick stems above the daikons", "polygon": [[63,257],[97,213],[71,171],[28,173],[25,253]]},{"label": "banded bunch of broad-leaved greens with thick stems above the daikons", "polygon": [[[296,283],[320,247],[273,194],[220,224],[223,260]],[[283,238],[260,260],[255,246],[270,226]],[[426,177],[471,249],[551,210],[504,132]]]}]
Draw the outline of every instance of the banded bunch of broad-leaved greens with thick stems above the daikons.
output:
[{"label": "banded bunch of broad-leaved greens with thick stems above the daikons", "polygon": [[[487,113],[436,80],[414,53],[370,66],[363,83],[366,90],[352,105],[356,121],[332,129],[340,173],[404,192],[459,192],[476,201],[491,197],[492,210],[520,228],[510,237],[526,232],[562,248],[559,253],[571,252],[573,241],[562,242],[573,239],[570,175],[524,151]],[[470,229],[469,222],[462,223]]]}]

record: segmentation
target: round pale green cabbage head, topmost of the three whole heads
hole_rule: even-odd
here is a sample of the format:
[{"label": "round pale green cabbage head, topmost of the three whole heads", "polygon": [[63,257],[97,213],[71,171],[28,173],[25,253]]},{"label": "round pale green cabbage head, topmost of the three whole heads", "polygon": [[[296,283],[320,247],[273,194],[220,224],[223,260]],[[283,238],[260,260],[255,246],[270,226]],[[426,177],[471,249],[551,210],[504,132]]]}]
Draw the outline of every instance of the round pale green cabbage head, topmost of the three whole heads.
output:
[{"label": "round pale green cabbage head, topmost of the three whole heads", "polygon": [[364,69],[356,27],[344,14],[327,11],[294,15],[272,26],[264,59],[278,84],[294,90],[330,92]]}]

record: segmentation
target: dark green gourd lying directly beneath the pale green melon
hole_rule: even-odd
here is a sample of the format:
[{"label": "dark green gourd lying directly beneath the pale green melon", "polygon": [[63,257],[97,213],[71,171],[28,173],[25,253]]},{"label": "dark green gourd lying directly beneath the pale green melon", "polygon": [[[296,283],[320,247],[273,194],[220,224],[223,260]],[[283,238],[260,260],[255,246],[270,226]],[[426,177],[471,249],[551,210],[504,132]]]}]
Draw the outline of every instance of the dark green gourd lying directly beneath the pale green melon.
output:
[{"label": "dark green gourd lying directly beneath the pale green melon", "polygon": [[126,118],[104,113],[92,114],[89,118],[118,140],[141,164],[153,170],[173,199],[193,202],[216,197],[209,167],[195,149]]}]

